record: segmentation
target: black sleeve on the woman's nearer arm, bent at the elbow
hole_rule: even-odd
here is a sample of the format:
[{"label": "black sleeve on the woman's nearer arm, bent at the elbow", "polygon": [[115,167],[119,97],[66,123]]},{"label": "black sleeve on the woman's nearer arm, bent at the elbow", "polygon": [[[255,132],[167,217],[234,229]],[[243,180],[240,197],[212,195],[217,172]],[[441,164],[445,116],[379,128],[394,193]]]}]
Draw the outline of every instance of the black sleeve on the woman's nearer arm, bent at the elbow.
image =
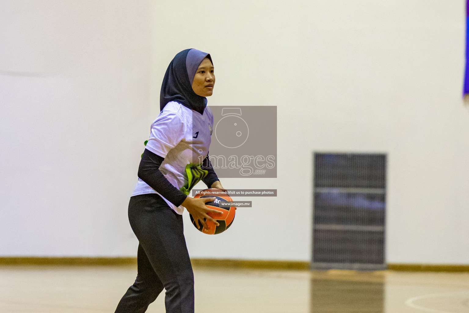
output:
[{"label": "black sleeve on the woman's nearer arm, bent at the elbow", "polygon": [[159,171],[159,166],[164,160],[165,158],[145,149],[138,167],[138,177],[172,204],[180,206],[187,196],[168,182]]}]

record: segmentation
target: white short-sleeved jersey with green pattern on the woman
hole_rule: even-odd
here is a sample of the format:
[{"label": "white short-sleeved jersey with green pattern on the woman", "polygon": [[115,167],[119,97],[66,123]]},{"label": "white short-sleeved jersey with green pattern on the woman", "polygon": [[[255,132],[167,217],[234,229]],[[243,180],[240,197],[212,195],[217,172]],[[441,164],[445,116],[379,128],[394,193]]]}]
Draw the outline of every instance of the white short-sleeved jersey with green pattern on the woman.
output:
[{"label": "white short-sleeved jersey with green pattern on the woman", "polygon": [[[201,179],[200,165],[208,154],[212,129],[213,114],[209,107],[201,115],[175,101],[168,102],[151,124],[146,149],[165,158],[160,172],[187,195]],[[159,194],[139,178],[132,196],[146,193]],[[178,214],[184,212],[183,206],[176,207],[161,198]]]}]

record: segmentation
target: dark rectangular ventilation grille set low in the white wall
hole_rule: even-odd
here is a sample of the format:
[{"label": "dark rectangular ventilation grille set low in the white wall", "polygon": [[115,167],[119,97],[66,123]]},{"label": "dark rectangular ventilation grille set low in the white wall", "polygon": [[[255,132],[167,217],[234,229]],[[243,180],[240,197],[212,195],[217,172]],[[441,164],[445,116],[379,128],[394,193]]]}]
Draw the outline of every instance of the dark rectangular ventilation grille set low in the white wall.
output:
[{"label": "dark rectangular ventilation grille set low in the white wall", "polygon": [[315,153],[313,267],[382,268],[386,155]]}]

